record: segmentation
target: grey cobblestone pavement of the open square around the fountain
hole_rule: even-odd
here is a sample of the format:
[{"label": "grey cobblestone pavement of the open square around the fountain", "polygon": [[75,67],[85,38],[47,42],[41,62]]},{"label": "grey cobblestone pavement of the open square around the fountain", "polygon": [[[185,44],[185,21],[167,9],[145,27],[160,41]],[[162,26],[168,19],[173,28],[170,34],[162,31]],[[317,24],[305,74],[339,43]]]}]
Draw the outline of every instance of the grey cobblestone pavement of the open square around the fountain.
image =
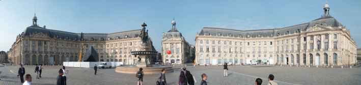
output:
[{"label": "grey cobblestone pavement of the open square around the fountain", "polygon": [[[33,84],[48,85],[55,84],[58,70],[61,66],[44,66],[42,78],[36,79],[34,73],[35,66],[25,66],[26,74],[33,76]],[[0,84],[20,84],[17,75],[18,66],[0,67]],[[94,75],[92,68],[67,68],[67,83],[73,84],[136,84],[135,74],[115,73],[115,69],[99,69],[98,75]],[[175,72],[167,73],[168,84],[177,84],[179,69]],[[197,66],[187,68],[196,77],[200,84],[201,74],[208,75],[209,84],[215,85],[237,85],[254,84],[257,77],[263,79],[263,84],[267,83],[268,74],[275,75],[275,80],[279,84],[361,84],[361,68],[307,68],[307,67],[279,67],[279,66],[230,66],[229,76],[223,77],[223,67],[221,66]],[[144,84],[155,84],[158,74],[145,75]]]}]

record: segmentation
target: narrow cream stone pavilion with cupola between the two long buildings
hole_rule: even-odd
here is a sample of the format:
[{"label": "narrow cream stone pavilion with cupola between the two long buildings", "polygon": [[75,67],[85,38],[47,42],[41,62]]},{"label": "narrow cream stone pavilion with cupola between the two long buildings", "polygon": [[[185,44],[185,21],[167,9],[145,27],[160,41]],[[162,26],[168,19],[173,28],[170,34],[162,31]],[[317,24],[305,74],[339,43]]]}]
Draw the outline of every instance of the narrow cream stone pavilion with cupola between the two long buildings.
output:
[{"label": "narrow cream stone pavilion with cupola between the two long buildings", "polygon": [[[183,64],[191,60],[190,44],[185,41],[182,34],[176,28],[176,21],[172,20],[172,29],[163,33],[162,58],[163,63]],[[170,51],[171,53],[167,53]]]}]

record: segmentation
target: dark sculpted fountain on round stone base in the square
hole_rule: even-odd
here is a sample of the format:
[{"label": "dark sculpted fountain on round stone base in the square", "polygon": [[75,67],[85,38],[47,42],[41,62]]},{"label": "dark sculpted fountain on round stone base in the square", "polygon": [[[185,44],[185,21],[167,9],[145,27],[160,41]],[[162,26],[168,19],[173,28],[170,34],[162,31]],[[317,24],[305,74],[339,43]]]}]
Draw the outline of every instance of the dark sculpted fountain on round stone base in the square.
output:
[{"label": "dark sculpted fountain on round stone base in the square", "polygon": [[148,37],[148,30],[146,31],[146,23],[142,24],[141,39],[142,39],[142,48],[139,51],[131,51],[130,53],[138,58],[136,65],[133,66],[118,66],[116,68],[117,73],[132,73],[135,74],[139,68],[143,68],[144,74],[157,74],[161,73],[162,69],[165,69],[166,72],[173,72],[172,66],[162,66],[162,65],[151,65],[149,58],[151,55],[156,55],[157,51],[152,50],[151,42]]}]

